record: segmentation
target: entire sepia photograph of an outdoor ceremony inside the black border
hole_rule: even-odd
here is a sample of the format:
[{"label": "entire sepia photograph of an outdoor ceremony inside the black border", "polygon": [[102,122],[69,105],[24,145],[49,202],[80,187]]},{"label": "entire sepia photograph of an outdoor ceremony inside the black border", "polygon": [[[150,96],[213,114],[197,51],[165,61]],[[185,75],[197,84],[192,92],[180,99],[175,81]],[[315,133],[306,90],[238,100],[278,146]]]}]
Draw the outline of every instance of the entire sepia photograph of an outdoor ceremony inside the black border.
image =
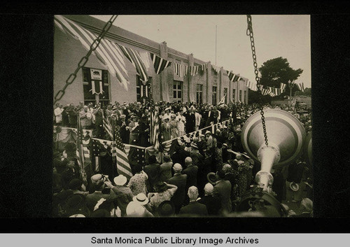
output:
[{"label": "entire sepia photograph of an outdoor ceremony inside the black border", "polygon": [[53,19],[52,217],[313,217],[310,15]]}]

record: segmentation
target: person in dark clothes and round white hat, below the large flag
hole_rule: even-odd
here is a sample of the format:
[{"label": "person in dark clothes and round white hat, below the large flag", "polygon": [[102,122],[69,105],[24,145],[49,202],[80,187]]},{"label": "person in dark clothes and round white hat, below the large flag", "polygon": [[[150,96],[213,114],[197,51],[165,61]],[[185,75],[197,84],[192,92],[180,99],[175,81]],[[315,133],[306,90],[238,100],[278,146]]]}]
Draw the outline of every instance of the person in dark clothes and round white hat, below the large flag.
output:
[{"label": "person in dark clothes and round white hat, below the large flag", "polygon": [[116,202],[121,211],[122,217],[127,215],[126,209],[127,204],[132,202],[134,195],[129,187],[127,187],[127,177],[124,175],[116,176],[113,179],[116,186],[113,186],[111,182],[106,182],[108,188],[110,188],[113,192],[116,193]]}]

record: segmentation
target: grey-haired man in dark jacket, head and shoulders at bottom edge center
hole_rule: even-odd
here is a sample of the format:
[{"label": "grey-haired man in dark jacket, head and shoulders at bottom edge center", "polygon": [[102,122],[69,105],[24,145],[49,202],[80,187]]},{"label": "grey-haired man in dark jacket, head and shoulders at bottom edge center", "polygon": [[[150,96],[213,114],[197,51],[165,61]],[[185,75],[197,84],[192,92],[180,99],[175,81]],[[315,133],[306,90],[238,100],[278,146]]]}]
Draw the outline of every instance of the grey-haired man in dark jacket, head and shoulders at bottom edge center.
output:
[{"label": "grey-haired man in dark jacket, head and shoulders at bottom edge center", "polygon": [[190,203],[187,206],[183,206],[179,212],[179,216],[184,217],[199,217],[208,216],[207,206],[197,202],[198,189],[195,186],[188,188],[188,198]]}]

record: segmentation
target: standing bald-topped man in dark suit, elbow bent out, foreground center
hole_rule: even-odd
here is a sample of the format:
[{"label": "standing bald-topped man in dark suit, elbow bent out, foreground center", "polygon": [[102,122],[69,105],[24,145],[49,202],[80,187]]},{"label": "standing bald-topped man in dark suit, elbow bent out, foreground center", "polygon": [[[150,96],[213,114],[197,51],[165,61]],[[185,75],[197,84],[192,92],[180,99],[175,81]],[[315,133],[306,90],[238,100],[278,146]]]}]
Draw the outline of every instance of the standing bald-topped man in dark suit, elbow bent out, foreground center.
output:
[{"label": "standing bald-topped man in dark suit, elbow bent out, foreground center", "polygon": [[177,186],[177,190],[172,197],[172,202],[174,203],[176,213],[179,213],[186,196],[187,175],[181,174],[182,166],[179,163],[174,164],[173,170],[174,176],[167,183]]}]

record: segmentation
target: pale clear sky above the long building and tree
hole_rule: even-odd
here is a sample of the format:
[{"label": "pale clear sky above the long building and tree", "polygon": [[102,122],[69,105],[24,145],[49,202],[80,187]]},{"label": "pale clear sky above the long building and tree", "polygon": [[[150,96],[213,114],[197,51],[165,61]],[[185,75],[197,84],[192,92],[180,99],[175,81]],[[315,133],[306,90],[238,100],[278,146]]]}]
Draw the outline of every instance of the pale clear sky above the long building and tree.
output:
[{"label": "pale clear sky above the long building and tree", "polygon": [[[92,15],[108,21],[111,15]],[[309,15],[251,15],[258,67],[283,57],[311,87]],[[246,15],[118,15],[114,25],[255,81]]]}]

